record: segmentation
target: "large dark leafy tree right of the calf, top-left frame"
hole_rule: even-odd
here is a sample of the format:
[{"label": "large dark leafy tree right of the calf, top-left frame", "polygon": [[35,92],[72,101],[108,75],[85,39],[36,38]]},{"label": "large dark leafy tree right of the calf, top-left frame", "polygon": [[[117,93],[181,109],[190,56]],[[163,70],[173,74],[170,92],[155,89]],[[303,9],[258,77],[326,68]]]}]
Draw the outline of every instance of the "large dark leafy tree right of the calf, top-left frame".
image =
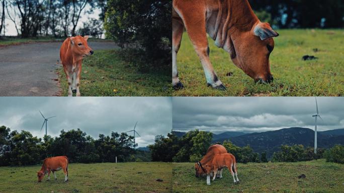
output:
[{"label": "large dark leafy tree right of the calf, top-left frame", "polygon": [[122,48],[142,50],[143,60],[137,60],[141,69],[170,65],[171,3],[109,0],[104,23],[106,37],[114,39]]}]

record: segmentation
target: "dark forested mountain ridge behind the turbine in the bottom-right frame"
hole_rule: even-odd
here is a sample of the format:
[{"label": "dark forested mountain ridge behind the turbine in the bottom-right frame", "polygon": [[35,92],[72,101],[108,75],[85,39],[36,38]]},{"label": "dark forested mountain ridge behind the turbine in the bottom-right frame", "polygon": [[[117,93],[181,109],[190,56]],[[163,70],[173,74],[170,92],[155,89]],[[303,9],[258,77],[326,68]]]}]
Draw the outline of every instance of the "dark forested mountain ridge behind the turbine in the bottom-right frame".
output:
[{"label": "dark forested mountain ridge behind the turbine in the bottom-right frame", "polygon": [[[339,133],[339,132],[334,132]],[[327,135],[318,132],[318,148],[329,148],[335,144],[344,145],[344,135]],[[292,127],[262,133],[250,133],[229,140],[240,147],[249,145],[255,152],[267,151],[268,156],[278,151],[281,145],[302,144],[305,147],[314,146],[314,131],[308,128]]]}]

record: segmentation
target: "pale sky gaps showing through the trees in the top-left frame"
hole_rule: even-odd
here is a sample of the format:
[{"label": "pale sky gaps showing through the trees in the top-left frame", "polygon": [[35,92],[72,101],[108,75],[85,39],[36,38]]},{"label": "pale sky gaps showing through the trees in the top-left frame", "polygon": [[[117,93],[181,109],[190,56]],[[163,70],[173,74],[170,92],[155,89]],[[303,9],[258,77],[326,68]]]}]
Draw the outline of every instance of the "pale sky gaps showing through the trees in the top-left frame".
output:
[{"label": "pale sky gaps showing through the trees in the top-left frame", "polygon": [[[79,22],[77,24],[77,28],[76,30],[78,30],[80,27],[83,26],[83,23],[84,22],[87,22],[89,19],[99,19],[99,14],[100,14],[100,10],[98,8],[94,8],[93,9],[93,14],[87,14],[85,13],[86,11],[90,10],[91,7],[89,5],[87,5],[83,11],[81,12],[81,15],[80,15],[80,19],[79,19]],[[10,11],[10,10],[9,10]],[[11,12],[11,11],[10,11]],[[18,13],[18,10],[17,10],[17,13]],[[13,12],[12,12],[12,15],[11,17],[13,17]],[[10,18],[8,17],[7,15],[7,11],[6,11],[6,18],[5,18],[5,23],[6,23],[6,32],[5,32],[5,35],[6,36],[17,36],[17,31],[16,31],[16,27],[15,27],[15,24],[12,22],[12,20],[10,20]],[[17,16],[17,19],[16,19],[16,23],[17,23],[17,27],[18,27],[18,30],[20,32],[20,18]],[[69,28],[69,33],[71,31],[71,27]],[[4,31],[2,31],[2,34],[4,33]]]}]

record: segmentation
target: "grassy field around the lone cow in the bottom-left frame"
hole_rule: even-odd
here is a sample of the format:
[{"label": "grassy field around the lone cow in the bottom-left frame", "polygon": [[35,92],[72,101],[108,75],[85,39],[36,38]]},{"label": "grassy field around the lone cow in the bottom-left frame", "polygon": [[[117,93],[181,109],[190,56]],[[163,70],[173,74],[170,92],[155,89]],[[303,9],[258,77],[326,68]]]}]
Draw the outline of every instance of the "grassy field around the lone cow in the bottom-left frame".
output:
[{"label": "grassy field around the lone cow in the bottom-left frame", "polygon": [[46,181],[45,176],[40,183],[36,173],[40,166],[0,167],[0,192],[170,192],[171,166],[161,162],[69,164],[67,182],[57,171],[57,180],[51,175]]}]

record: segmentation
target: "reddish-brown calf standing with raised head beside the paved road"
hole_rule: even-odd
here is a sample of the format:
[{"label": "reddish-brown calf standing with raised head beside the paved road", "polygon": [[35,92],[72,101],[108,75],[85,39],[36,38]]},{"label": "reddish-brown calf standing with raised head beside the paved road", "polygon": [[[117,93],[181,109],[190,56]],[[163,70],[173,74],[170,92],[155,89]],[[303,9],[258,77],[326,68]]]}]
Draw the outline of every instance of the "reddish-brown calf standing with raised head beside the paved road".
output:
[{"label": "reddish-brown calf standing with raised head beside the paved road", "polygon": [[82,58],[93,54],[92,48],[87,44],[88,39],[89,36],[68,37],[60,48],[60,59],[68,80],[68,96],[72,96],[72,92],[76,92],[76,96],[80,96]]}]

